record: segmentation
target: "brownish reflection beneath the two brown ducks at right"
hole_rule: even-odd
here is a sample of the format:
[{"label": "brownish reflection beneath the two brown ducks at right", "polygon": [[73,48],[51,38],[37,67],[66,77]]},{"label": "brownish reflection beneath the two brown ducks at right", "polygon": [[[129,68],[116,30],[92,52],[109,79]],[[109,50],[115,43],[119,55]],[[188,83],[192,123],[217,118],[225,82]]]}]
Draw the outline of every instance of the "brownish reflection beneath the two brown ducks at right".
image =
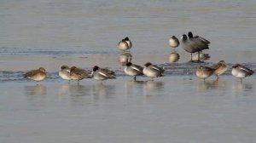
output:
[{"label": "brownish reflection beneath the two brown ducks at right", "polygon": [[207,89],[226,89],[226,82],[223,80],[208,80],[199,81],[196,84],[196,89],[198,92],[205,91]]}]

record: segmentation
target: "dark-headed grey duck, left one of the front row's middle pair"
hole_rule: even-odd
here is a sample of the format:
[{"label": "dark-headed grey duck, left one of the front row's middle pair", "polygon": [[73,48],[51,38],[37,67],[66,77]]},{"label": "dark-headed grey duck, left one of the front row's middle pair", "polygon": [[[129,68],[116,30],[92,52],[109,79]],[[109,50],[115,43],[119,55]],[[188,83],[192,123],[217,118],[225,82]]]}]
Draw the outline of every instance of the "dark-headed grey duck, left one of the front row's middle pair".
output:
[{"label": "dark-headed grey duck, left one of the front row's middle pair", "polygon": [[131,62],[128,62],[125,66],[124,72],[125,72],[125,74],[127,74],[129,76],[133,76],[134,81],[136,81],[136,76],[143,75],[143,67],[134,65]]}]

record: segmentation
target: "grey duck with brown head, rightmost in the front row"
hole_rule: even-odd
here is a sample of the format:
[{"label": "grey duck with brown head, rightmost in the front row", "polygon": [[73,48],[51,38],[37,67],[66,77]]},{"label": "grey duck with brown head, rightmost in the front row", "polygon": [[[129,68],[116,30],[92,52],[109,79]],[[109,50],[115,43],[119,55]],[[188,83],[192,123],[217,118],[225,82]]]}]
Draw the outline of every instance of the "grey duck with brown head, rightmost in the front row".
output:
[{"label": "grey duck with brown head, rightmost in the front row", "polygon": [[253,70],[250,70],[245,66],[241,66],[240,64],[235,64],[232,66],[232,75],[240,78],[240,80],[242,80],[244,77],[253,75],[253,73]]}]

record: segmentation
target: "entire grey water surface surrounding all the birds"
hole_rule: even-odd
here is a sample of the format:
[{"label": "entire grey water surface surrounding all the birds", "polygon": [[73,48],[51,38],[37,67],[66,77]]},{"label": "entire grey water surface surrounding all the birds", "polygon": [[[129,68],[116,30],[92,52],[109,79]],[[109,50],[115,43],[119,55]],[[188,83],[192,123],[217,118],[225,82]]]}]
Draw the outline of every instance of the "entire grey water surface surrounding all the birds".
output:
[{"label": "entire grey water surface surrounding all the birds", "polygon": [[[65,1],[0,2],[1,142],[247,142],[255,140],[255,76],[242,83],[230,69],[215,81],[195,77],[181,47],[177,63],[167,40],[193,31],[211,41],[204,65],[225,60],[255,71],[256,2]],[[131,82],[117,43],[130,37],[132,62],[166,68],[154,82]],[[79,60],[78,60],[79,59]],[[96,62],[96,63],[95,63]],[[116,80],[67,84],[61,64],[102,64]],[[37,85],[22,77],[46,66]]]}]

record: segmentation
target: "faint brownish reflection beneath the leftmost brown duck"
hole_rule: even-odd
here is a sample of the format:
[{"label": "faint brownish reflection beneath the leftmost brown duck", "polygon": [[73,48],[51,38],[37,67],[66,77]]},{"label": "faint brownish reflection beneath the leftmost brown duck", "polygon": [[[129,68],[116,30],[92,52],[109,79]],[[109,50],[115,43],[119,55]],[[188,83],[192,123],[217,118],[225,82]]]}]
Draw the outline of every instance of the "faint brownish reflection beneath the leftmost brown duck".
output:
[{"label": "faint brownish reflection beneath the leftmost brown duck", "polygon": [[44,95],[47,94],[46,87],[41,84],[26,86],[25,94],[27,95]]}]

